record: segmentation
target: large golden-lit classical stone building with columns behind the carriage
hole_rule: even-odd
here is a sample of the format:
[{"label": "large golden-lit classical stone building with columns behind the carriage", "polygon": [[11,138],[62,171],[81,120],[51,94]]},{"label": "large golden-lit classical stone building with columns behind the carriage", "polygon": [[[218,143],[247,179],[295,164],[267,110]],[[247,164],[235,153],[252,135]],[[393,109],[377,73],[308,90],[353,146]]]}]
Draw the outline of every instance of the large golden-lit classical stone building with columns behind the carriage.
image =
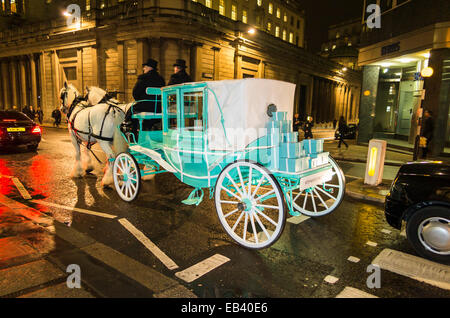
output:
[{"label": "large golden-lit classical stone building with columns behind the carriage", "polygon": [[[295,83],[295,111],[316,122],[358,114],[361,74],[302,48],[304,18],[295,1],[22,0],[14,14],[8,8],[20,1],[8,1],[0,31],[0,109],[40,105],[49,120],[64,81],[80,92],[115,90],[130,102],[151,57],[166,82],[182,58],[195,81]],[[80,20],[68,23],[69,4],[79,5]]]}]

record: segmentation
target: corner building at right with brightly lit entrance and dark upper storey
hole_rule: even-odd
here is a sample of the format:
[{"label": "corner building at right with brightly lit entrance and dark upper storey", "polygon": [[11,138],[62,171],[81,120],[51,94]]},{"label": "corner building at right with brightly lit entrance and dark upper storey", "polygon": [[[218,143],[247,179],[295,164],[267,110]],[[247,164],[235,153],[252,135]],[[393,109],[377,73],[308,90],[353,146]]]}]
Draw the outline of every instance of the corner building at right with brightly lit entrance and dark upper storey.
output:
[{"label": "corner building at right with brightly lit entrance and dark upper storey", "polygon": [[[363,16],[358,64],[363,67],[361,142],[373,137],[414,143],[423,110],[435,120],[432,152],[450,143],[450,2],[366,0],[381,7],[381,27]],[[423,70],[432,68],[431,77]],[[427,69],[429,70],[429,68]]]}]

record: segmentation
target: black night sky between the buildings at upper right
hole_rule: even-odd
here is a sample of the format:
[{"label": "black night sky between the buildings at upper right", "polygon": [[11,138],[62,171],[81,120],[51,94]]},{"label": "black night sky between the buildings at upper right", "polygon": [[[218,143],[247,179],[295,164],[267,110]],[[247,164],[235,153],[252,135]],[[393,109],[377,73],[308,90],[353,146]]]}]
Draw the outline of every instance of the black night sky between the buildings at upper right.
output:
[{"label": "black night sky between the buildings at upper right", "polygon": [[363,4],[364,0],[304,0],[308,51],[320,51],[322,43],[328,39],[328,26],[360,18]]}]

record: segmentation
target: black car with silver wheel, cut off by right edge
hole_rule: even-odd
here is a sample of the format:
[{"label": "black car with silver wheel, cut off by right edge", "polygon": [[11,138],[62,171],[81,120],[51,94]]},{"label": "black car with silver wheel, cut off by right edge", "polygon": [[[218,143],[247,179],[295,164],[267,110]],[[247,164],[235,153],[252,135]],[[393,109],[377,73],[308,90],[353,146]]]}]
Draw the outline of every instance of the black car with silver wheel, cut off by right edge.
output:
[{"label": "black car with silver wheel, cut off by right edge", "polygon": [[385,216],[397,229],[406,222],[406,236],[417,254],[449,264],[450,164],[402,165],[386,197]]}]

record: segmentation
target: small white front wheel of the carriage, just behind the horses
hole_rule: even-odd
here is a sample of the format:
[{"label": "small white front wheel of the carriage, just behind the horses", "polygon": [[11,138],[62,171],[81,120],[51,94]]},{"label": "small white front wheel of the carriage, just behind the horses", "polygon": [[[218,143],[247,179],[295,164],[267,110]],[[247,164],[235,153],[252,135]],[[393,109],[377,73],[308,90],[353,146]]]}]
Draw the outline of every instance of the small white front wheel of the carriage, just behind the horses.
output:
[{"label": "small white front wheel of the carriage, just behind the horses", "polygon": [[120,198],[131,202],[141,188],[141,172],[136,159],[126,152],[116,157],[113,165],[114,186]]}]

